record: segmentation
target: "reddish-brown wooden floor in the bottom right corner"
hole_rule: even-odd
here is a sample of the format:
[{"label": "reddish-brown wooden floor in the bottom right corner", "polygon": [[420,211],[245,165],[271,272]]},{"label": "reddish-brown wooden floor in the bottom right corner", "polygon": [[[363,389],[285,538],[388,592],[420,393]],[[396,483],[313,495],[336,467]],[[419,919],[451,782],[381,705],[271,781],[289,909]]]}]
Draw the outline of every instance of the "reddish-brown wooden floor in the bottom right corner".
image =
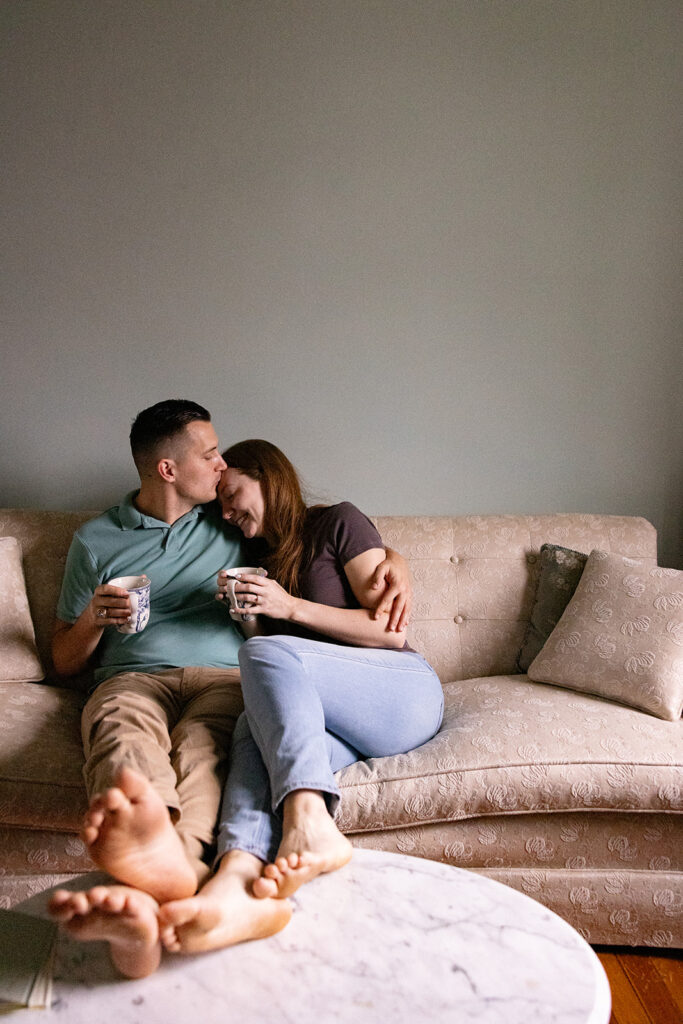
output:
[{"label": "reddish-brown wooden floor in the bottom right corner", "polygon": [[683,952],[594,946],[612,993],[609,1024],[681,1024]]}]

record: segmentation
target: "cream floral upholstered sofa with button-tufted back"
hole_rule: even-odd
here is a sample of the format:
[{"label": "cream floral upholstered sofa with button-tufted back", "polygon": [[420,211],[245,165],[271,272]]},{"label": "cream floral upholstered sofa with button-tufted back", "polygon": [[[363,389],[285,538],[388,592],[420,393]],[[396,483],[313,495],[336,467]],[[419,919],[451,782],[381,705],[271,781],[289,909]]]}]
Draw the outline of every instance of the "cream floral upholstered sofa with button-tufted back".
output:
[{"label": "cream floral upholstered sofa with button-tufted back", "polygon": [[[78,837],[86,806],[84,689],[54,679],[49,635],[71,537],[93,514],[0,510],[4,906],[92,866]],[[654,528],[640,518],[569,514],[376,522],[410,560],[409,639],[437,670],[445,713],[438,734],[419,750],[340,773],[341,827],[357,847],[445,861],[520,889],[590,942],[683,946],[683,573],[656,568]],[[598,632],[592,650],[583,650],[587,634],[570,611],[589,562],[529,672],[561,675],[553,657],[569,652],[577,671],[597,667],[602,696],[587,692],[585,678],[560,686],[517,671],[544,545],[596,551],[584,597]],[[621,559],[622,590],[636,601],[628,614],[614,610],[610,554]],[[657,616],[664,625],[654,637]],[[661,651],[669,659],[664,697],[651,675]],[[622,689],[612,692],[601,673],[615,664]],[[626,695],[624,686],[631,687]]]}]

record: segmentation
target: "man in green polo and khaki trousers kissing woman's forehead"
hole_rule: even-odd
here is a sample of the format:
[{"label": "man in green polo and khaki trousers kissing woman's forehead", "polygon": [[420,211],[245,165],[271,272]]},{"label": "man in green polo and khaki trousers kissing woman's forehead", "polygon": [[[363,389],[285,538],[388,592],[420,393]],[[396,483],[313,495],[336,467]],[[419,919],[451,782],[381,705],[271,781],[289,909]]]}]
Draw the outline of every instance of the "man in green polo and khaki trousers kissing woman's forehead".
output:
[{"label": "man in green polo and khaki trousers kissing woman's forehead", "polygon": [[[148,963],[142,957],[140,967],[137,957],[130,967],[127,932],[117,958],[115,938],[98,927],[98,915],[111,911],[118,936],[127,908],[137,924],[146,914],[147,936],[154,901],[191,895],[209,872],[205,857],[243,709],[237,670],[243,638],[215,600],[216,574],[244,561],[240,532],[213,504],[225,463],[207,410],[180,399],[159,402],[137,416],[130,442],[140,487],[75,535],[52,641],[60,674],[96,664],[82,718],[90,798],[83,837],[95,863],[132,887],[56,894],[52,909],[65,921],[81,915],[71,927],[75,934],[83,925],[83,937],[110,939],[115,962],[129,975],[148,973]],[[378,568],[378,584],[384,571]],[[138,634],[119,633],[130,600],[106,581],[142,573],[152,581],[148,624]],[[387,582],[391,575],[387,569]],[[395,593],[386,589],[382,610]],[[392,609],[391,625],[401,606]],[[254,910],[257,930],[289,920],[283,901],[268,902],[271,909]]]}]

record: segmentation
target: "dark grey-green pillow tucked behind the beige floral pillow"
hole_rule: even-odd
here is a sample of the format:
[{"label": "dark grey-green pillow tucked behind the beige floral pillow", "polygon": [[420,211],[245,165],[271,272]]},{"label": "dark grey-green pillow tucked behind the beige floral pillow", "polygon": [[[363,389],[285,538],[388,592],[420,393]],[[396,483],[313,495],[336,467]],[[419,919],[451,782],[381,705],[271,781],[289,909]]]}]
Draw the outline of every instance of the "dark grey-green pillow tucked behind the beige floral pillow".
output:
[{"label": "dark grey-green pillow tucked behind the beige floral pillow", "polygon": [[557,544],[541,548],[541,572],[526,632],[517,654],[517,669],[526,672],[560,621],[573,596],[588,555]]}]

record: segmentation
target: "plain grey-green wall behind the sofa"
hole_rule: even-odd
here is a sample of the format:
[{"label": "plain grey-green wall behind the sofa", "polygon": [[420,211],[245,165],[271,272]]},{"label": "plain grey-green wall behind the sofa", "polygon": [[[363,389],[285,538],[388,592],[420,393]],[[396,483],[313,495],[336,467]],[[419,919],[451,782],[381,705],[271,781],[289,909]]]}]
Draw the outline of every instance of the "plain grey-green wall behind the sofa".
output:
[{"label": "plain grey-green wall behind the sofa", "polygon": [[374,513],[683,559],[681,6],[4,0],[0,504],[168,396]]}]

